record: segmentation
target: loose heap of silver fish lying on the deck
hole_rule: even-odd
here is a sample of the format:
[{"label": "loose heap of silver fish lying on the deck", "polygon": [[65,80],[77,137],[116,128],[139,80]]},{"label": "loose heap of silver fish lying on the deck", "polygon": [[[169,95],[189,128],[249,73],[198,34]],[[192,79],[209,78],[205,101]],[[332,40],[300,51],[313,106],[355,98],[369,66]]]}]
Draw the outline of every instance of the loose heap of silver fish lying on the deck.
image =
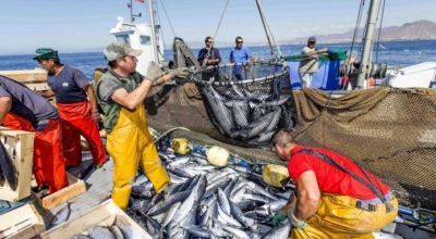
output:
[{"label": "loose heap of silver fish lying on the deck", "polygon": [[136,177],[128,214],[153,238],[288,238],[290,224],[274,228],[270,217],[287,204],[291,188],[265,185],[240,165],[208,164],[203,154],[159,150],[171,177],[156,194],[148,179]]}]

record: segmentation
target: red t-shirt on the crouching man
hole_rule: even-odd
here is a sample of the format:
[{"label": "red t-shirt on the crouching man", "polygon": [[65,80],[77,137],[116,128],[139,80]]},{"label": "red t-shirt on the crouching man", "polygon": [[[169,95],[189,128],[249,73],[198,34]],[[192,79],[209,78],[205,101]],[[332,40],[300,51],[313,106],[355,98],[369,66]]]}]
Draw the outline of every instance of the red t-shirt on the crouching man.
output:
[{"label": "red t-shirt on the crouching man", "polygon": [[[342,194],[350,196],[356,199],[375,199],[375,196],[371,189],[364,186],[362,183],[355,180],[349,174],[342,172],[339,168],[331,166],[330,164],[324,162],[322,159],[308,154],[308,153],[299,153],[302,149],[312,149],[319,153],[323,153],[342,165],[344,168],[353,172],[360,177],[366,179],[366,176],[362,173],[358,164],[355,164],[352,160],[342,156],[341,154],[322,148],[310,148],[310,147],[301,147],[296,146],[291,150],[291,160],[288,164],[289,175],[291,176],[293,181],[298,181],[300,175],[306,171],[313,171],[316,175],[318,187],[320,192],[325,193],[334,193],[334,194]],[[295,155],[296,154],[296,155]],[[367,173],[367,172],[366,172]],[[384,185],[376,176],[367,173],[372,181],[375,184],[377,188],[382,190],[384,194],[389,191],[389,187]]]}]

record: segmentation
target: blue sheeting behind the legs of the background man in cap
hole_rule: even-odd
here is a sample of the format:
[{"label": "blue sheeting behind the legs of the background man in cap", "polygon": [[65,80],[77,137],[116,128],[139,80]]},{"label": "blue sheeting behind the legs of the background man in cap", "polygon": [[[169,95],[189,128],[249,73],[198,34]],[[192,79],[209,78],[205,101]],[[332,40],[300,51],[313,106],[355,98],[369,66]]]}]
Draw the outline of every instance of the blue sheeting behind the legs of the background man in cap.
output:
[{"label": "blue sheeting behind the legs of the background man in cap", "polygon": [[[326,61],[319,64],[318,72],[314,74],[311,87],[324,90],[338,90],[340,87],[339,66],[341,61]],[[288,62],[292,89],[301,89],[299,75],[300,62]]]}]

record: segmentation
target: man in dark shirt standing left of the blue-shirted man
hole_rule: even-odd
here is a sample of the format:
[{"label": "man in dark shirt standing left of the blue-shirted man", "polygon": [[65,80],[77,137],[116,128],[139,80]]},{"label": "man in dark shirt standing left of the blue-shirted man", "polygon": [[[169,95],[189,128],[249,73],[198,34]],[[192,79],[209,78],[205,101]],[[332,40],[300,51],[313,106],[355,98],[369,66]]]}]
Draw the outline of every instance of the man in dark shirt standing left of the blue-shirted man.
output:
[{"label": "man in dark shirt standing left of the blue-shirted man", "polygon": [[[207,36],[205,38],[205,47],[202,48],[198,52],[198,63],[202,67],[205,66],[217,66],[221,62],[221,55],[219,54],[218,48],[214,47],[214,38]],[[215,80],[219,80],[219,72],[218,68],[207,70],[202,73],[203,80],[210,80],[214,77]]]}]

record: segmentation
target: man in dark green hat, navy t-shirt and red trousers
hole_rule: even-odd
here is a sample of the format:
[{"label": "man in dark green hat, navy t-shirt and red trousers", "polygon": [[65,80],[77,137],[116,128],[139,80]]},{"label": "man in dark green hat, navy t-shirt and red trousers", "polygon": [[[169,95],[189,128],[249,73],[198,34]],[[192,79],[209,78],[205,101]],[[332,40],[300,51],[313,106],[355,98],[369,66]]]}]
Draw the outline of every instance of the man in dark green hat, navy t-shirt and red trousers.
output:
[{"label": "man in dark green hat, navy t-shirt and red trousers", "polygon": [[58,51],[53,49],[37,49],[34,60],[48,72],[51,90],[44,96],[56,97],[62,121],[62,147],[66,167],[82,162],[81,135],[89,142],[94,165],[101,166],[107,158],[97,126],[101,118],[94,87],[81,71],[62,64]]}]

